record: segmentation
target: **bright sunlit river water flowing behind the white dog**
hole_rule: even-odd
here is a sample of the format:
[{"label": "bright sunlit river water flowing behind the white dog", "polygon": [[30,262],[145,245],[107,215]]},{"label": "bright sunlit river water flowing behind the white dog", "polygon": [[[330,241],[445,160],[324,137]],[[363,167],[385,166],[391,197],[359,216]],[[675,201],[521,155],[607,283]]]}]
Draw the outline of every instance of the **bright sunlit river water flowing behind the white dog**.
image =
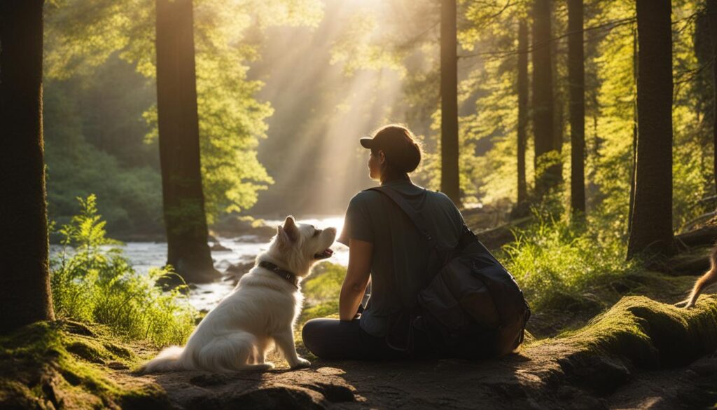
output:
[{"label": "bright sunlit river water flowing behind the white dog", "polygon": [[[338,234],[341,233],[343,218],[311,218],[298,220],[298,223],[309,223],[317,228],[335,227]],[[277,226],[283,223],[283,220],[267,220],[266,225]],[[257,253],[265,251],[268,241],[262,241],[257,236],[244,235],[237,238],[217,237],[217,241],[228,248],[229,251],[212,251],[214,259],[214,267],[220,272],[224,272],[229,266],[234,264],[244,264],[252,262]],[[124,251],[124,256],[128,258],[136,271],[147,273],[153,267],[163,266],[167,258],[167,244],[163,242],[126,242],[120,248]],[[334,242],[333,256],[326,259],[333,264],[341,264],[348,266],[348,248],[341,243]],[[51,255],[62,250],[61,246],[53,245],[50,247]],[[209,284],[197,284],[194,289],[189,292],[189,302],[199,310],[209,310],[219,303],[219,300],[227,295],[233,288],[234,282],[232,277],[224,277],[223,280]]]}]

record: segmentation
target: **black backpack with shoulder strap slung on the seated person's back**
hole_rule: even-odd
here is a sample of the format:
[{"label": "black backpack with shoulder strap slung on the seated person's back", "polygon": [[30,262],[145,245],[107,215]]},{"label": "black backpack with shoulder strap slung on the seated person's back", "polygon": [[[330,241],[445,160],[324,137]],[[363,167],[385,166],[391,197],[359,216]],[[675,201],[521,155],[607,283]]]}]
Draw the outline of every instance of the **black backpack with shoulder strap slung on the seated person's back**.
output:
[{"label": "black backpack with shoulder strap slung on the seated person's back", "polygon": [[458,245],[441,248],[420,213],[390,187],[370,188],[389,197],[422,233],[442,267],[418,294],[416,307],[391,323],[386,342],[414,353],[414,337],[434,350],[462,358],[500,357],[523,343],[531,309],[513,276],[465,224]]}]

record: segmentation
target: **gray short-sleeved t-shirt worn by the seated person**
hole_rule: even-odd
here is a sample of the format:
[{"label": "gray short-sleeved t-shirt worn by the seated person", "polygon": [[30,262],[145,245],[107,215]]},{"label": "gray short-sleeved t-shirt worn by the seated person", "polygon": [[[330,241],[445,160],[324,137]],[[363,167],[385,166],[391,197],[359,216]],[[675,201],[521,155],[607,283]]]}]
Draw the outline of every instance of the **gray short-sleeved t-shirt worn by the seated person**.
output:
[{"label": "gray short-sleeved t-shirt worn by the seated person", "polygon": [[[462,232],[463,218],[442,192],[432,192],[408,180],[386,182],[421,213],[442,247],[454,248]],[[361,328],[384,336],[392,317],[412,309],[417,294],[440,268],[427,241],[409,217],[389,197],[376,191],[361,191],[346,209],[341,236],[374,244],[371,255],[371,298],[361,315]]]}]

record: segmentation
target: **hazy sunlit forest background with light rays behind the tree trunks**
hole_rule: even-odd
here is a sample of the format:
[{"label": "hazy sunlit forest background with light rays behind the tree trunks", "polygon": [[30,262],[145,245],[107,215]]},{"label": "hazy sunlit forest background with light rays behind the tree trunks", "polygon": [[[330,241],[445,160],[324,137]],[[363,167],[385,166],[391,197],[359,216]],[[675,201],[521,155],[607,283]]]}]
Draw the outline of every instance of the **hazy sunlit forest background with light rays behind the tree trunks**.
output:
[{"label": "hazy sunlit forest background with light rays behind the tree trunks", "polygon": [[[161,234],[153,6],[95,4],[106,2],[45,7],[49,218],[66,222],[77,213],[75,198],[95,193],[111,234]],[[507,213],[517,195],[518,26],[530,4],[458,3],[462,203]],[[715,194],[713,58],[703,3],[672,6],[679,230],[713,208],[704,200]],[[569,181],[567,10],[565,2],[551,7],[554,132]],[[196,0],[194,9],[210,223],[236,212],[343,213],[351,196],[373,183],[356,140],[387,122],[407,124],[423,141],[415,182],[440,187],[438,2]],[[587,213],[612,220],[624,236],[635,139],[635,4],[586,1],[584,27]],[[531,124],[526,163],[533,163]],[[533,171],[526,167],[528,186]],[[561,190],[558,202],[569,202],[569,186]]]}]

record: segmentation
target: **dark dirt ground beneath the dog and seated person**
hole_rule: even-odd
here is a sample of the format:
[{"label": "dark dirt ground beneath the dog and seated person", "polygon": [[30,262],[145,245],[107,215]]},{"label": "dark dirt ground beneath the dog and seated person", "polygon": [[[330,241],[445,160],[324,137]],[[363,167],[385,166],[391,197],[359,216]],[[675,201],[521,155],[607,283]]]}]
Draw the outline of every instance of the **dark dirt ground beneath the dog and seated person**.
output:
[{"label": "dark dirt ground beneath the dog and seated person", "polygon": [[658,371],[599,358],[576,371],[571,352],[538,346],[503,360],[383,363],[316,360],[300,371],[143,376],[178,409],[707,409],[717,358]]}]

